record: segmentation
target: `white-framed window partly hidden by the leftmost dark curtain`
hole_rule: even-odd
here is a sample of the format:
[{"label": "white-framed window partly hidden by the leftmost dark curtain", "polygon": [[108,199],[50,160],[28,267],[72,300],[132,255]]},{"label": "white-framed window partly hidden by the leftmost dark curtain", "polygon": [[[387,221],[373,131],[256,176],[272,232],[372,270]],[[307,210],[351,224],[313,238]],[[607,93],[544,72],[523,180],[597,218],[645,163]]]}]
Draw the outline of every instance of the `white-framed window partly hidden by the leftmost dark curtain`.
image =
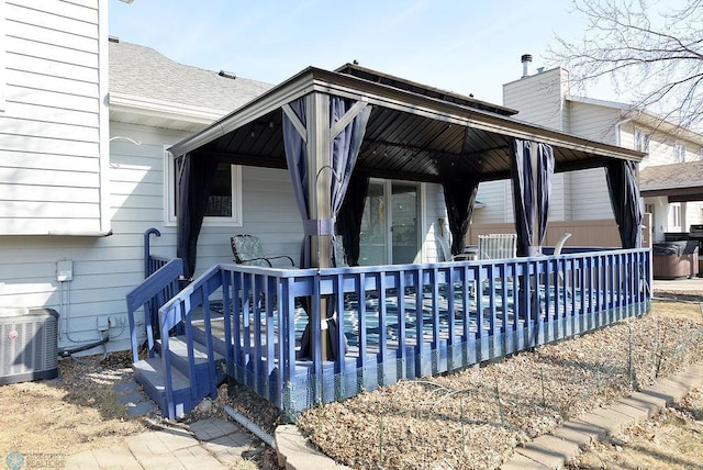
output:
[{"label": "white-framed window partly hidden by the leftmost dark curtain", "polygon": [[[167,168],[165,194],[166,223],[175,225],[178,214],[179,161],[165,152]],[[210,191],[203,226],[242,226],[242,168],[237,165],[220,163]]]}]

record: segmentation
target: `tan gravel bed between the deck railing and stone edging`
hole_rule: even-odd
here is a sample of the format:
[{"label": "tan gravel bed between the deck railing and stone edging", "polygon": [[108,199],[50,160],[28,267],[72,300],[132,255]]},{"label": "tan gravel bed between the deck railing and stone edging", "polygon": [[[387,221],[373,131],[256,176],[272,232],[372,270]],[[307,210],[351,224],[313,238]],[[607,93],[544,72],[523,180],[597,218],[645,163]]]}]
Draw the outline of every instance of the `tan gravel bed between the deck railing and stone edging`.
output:
[{"label": "tan gravel bed between the deck railing and stone edging", "polygon": [[325,404],[297,424],[353,468],[498,468],[516,446],[699,361],[702,339],[700,320],[648,315]]}]

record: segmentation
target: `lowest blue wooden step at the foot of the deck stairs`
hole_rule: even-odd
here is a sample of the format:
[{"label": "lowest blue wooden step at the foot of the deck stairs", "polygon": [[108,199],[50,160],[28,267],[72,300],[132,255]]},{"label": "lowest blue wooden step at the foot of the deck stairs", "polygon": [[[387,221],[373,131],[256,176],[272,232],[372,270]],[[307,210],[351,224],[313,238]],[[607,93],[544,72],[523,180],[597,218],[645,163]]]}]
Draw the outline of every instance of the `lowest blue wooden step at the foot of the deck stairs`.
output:
[{"label": "lowest blue wooden step at the foot of the deck stairs", "polygon": [[[136,382],[144,388],[146,394],[154,400],[164,415],[168,416],[168,406],[166,403],[166,378],[161,370],[161,359],[157,357],[142,359],[138,362],[133,363],[132,369],[134,370],[134,379]],[[201,393],[202,396],[193,398],[190,390],[190,380],[172,367],[171,381],[174,384],[176,416],[193,410],[209,393],[208,388],[201,385],[200,388],[204,389]]]}]

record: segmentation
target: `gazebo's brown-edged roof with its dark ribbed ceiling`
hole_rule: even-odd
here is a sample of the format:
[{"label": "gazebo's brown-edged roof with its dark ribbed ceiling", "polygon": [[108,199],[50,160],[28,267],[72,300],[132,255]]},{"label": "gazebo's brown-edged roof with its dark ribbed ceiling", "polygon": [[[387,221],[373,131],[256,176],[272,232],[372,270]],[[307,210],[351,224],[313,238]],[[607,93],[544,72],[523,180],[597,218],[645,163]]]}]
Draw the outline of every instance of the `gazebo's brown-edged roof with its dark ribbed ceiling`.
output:
[{"label": "gazebo's brown-edged roof with its dark ribbed ceiling", "polygon": [[347,64],[337,71],[310,67],[169,150],[224,161],[287,168],[281,107],[311,92],[373,105],[357,169],[371,176],[439,182],[510,177],[512,138],[550,144],[555,170],[602,166],[610,158],[640,161],[645,154],[521,122],[515,111],[470,97]]}]

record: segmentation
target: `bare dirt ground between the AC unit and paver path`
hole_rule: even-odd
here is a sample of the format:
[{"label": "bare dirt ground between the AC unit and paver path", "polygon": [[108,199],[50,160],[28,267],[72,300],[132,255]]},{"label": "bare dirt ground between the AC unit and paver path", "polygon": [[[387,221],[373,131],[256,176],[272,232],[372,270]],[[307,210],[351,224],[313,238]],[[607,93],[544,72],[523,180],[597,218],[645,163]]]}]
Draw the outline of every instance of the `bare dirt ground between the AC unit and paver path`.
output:
[{"label": "bare dirt ground between the AC unit and paver path", "polygon": [[[62,359],[58,369],[53,380],[0,387],[0,469],[8,468],[7,459],[14,452],[38,462],[33,468],[63,468],[68,456],[119,445],[135,434],[166,425],[185,426],[207,416],[227,418],[223,412],[231,402],[226,385],[220,388],[209,412],[194,411],[179,423],[167,423],[158,411],[129,417],[126,405],[115,401],[113,390],[132,380],[129,351]],[[265,403],[257,406],[269,407]],[[278,465],[272,450],[261,445],[231,468],[277,469]]]}]

